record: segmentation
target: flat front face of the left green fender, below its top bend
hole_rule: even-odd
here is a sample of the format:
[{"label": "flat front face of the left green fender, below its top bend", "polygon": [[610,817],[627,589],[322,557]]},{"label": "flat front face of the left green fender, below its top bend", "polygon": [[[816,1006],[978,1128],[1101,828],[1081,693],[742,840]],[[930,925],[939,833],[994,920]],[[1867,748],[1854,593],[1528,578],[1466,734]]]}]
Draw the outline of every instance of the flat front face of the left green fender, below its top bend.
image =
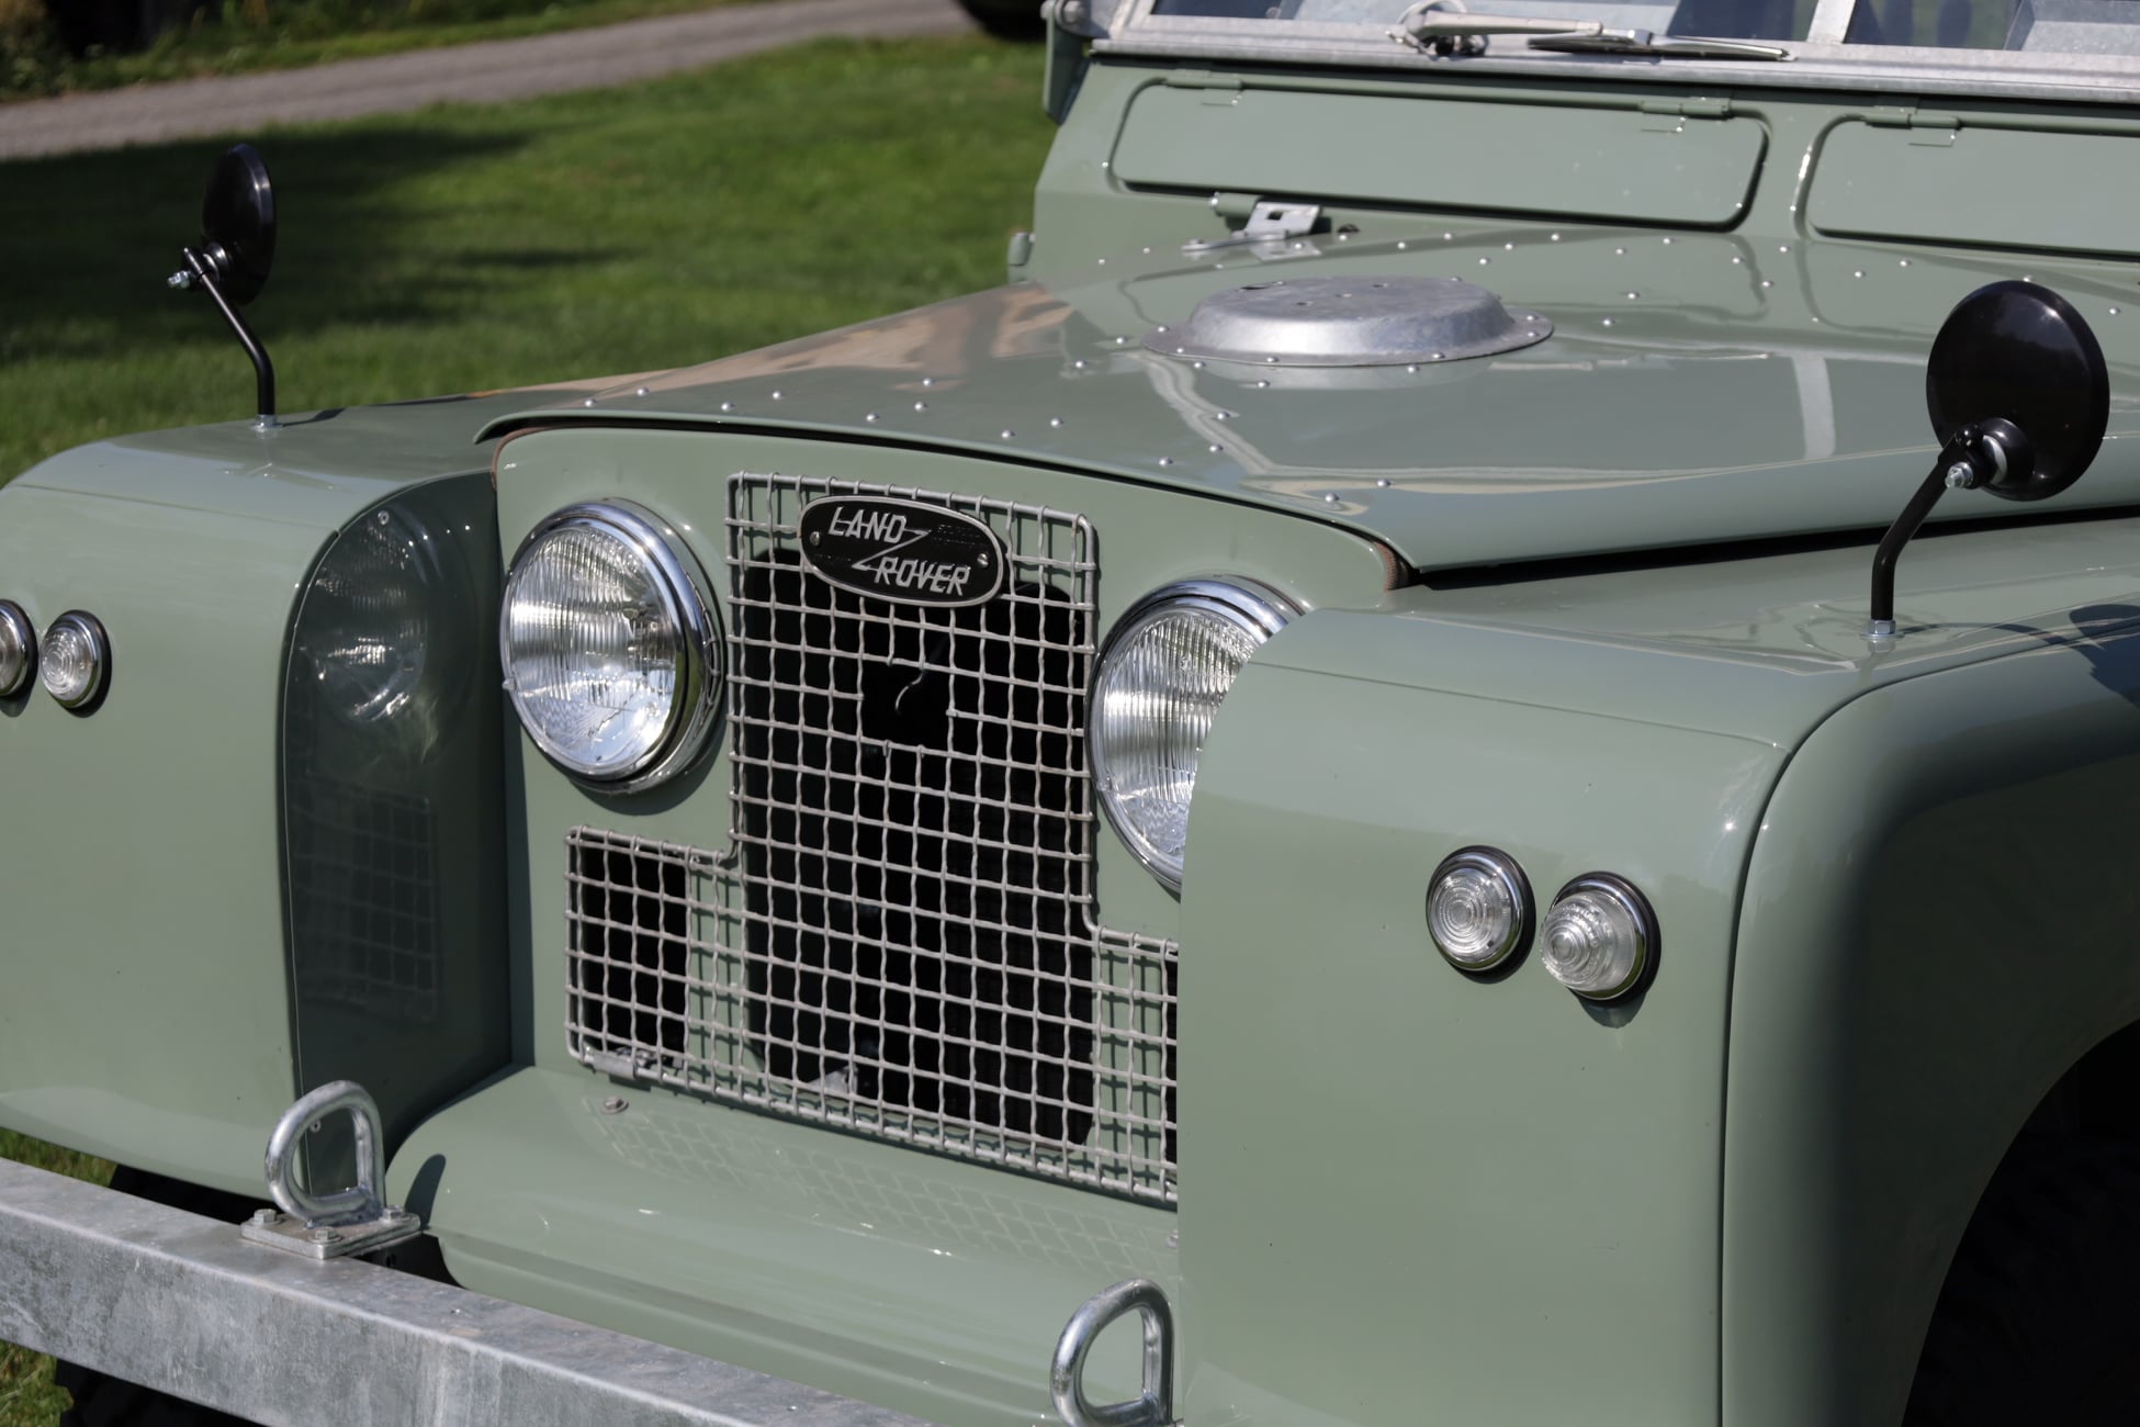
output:
[{"label": "flat front face of the left green fender, below its top bend", "polygon": [[259,1183],[295,1095],[276,712],[289,597],[319,539],[30,481],[0,494],[9,595],[39,629],[90,610],[111,638],[94,715],[36,685],[0,704],[0,787],[36,824],[0,862],[11,1130]]}]

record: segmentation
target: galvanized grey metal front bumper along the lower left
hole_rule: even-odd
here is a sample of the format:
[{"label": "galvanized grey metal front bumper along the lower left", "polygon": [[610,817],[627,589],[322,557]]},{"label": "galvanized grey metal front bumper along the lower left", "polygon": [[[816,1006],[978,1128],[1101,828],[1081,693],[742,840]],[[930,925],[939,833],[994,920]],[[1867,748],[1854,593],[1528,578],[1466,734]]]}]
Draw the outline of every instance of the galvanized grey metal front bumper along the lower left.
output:
[{"label": "galvanized grey metal front bumper along the lower left", "polygon": [[0,1339],[293,1427],[924,1427],[394,1269],[278,1254],[231,1224],[9,1162]]}]

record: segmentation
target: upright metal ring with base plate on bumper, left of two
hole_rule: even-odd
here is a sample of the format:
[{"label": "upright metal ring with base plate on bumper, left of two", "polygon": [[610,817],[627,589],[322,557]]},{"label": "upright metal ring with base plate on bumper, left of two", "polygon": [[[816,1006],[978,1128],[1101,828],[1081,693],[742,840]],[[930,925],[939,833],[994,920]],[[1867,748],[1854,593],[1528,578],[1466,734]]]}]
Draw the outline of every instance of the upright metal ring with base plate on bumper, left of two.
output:
[{"label": "upright metal ring with base plate on bumper, left of two", "polygon": [[[357,1138],[357,1183],[334,1194],[312,1194],[295,1179],[297,1140],[336,1110],[349,1115]],[[424,1232],[424,1222],[379,1198],[387,1172],[385,1134],[379,1104],[355,1080],[334,1080],[304,1095],[268,1136],[268,1194],[282,1207],[261,1209],[242,1228],[246,1243],[259,1243],[306,1258],[374,1254]]]}]

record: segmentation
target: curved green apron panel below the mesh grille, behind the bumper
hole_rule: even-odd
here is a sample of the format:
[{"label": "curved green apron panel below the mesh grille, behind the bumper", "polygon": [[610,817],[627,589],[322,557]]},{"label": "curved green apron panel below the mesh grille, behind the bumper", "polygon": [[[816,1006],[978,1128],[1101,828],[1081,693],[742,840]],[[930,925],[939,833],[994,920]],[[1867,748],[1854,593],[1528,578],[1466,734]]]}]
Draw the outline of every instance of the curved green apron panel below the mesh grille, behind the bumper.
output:
[{"label": "curved green apron panel below the mesh grille, behind the bumper", "polygon": [[[434,1117],[392,1187],[469,1288],[950,1427],[1044,1421],[1042,1369],[1079,1303],[1126,1277],[1179,1288],[1162,1209],[578,1065]],[[1124,1337],[1094,1361],[1096,1393],[1134,1395]]]}]

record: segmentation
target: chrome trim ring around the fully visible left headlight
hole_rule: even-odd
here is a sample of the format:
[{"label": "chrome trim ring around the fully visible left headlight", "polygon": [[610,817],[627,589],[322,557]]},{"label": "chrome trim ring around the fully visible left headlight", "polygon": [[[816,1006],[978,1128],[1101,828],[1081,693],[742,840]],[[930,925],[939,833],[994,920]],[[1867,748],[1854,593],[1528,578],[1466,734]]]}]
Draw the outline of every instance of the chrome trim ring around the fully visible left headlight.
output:
[{"label": "chrome trim ring around the fully visible left headlight", "polygon": [[499,601],[499,661],[507,676],[514,665],[507,640],[507,612],[511,610],[514,578],[520,573],[520,563],[546,535],[576,524],[618,535],[644,554],[657,576],[655,584],[659,586],[661,603],[683,631],[685,659],[678,670],[676,700],[670,706],[668,727],[655,747],[638,759],[614,772],[597,774],[584,766],[576,766],[544,734],[535,732],[520,708],[518,689],[511,689],[514,715],[535,747],[541,749],[544,757],[574,781],[606,794],[636,794],[685,772],[706,751],[708,734],[721,717],[721,687],[725,678],[721,665],[721,618],[708,593],[713,586],[698,556],[691,554],[689,546],[676,537],[661,516],[629,501],[567,505],[546,516],[526,533],[526,539],[514,552],[511,565],[505,569],[503,599]]}]

